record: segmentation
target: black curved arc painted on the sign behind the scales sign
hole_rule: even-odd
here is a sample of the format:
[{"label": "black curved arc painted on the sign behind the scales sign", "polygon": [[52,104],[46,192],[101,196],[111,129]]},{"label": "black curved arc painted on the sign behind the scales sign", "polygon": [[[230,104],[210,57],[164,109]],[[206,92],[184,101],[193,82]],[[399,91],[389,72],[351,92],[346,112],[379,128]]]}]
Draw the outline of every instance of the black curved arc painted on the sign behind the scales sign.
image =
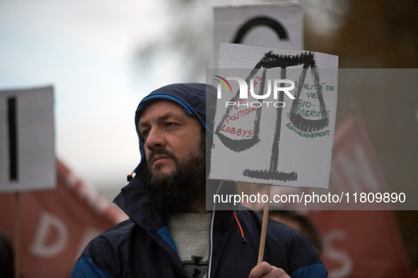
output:
[{"label": "black curved arc painted on the sign behind the scales sign", "polygon": [[289,40],[286,30],[279,22],[272,18],[266,18],[262,16],[258,18],[252,18],[248,20],[245,24],[243,24],[236,33],[235,38],[233,39],[233,43],[240,44],[241,42],[243,42],[245,35],[247,35],[247,33],[252,28],[255,28],[260,25],[272,28],[272,30],[274,30],[274,32],[277,33],[277,36],[279,36],[280,40]]}]

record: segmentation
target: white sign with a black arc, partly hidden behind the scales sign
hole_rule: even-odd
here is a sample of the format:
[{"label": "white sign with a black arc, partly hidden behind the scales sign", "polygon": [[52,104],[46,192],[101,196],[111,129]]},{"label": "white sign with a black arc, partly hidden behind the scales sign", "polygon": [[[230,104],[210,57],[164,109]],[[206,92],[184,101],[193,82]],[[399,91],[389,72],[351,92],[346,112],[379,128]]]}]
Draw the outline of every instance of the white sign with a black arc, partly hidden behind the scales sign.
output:
[{"label": "white sign with a black arc, partly hidden behind the scales sign", "polygon": [[303,49],[303,10],[296,2],[215,7],[215,67],[222,43]]}]

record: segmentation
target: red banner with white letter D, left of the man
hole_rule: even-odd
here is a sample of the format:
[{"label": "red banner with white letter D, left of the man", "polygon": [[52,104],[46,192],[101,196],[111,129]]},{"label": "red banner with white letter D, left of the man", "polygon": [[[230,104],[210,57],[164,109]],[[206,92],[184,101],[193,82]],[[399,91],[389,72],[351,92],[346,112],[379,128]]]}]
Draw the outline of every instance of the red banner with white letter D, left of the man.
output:
[{"label": "red banner with white letter D, left of the man", "polygon": [[59,161],[57,188],[19,194],[0,194],[0,230],[14,244],[20,219],[22,277],[69,277],[88,241],[127,218]]}]

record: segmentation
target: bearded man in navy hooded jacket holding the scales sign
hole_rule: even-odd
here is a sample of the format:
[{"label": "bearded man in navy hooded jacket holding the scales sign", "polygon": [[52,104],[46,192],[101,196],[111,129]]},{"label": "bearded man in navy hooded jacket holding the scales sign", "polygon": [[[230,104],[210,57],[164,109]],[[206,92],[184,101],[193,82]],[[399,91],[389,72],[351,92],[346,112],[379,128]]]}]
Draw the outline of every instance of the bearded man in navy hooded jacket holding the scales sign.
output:
[{"label": "bearded man in navy hooded jacket holding the scales sign", "polygon": [[71,277],[327,277],[306,238],[274,221],[257,265],[261,214],[207,206],[215,105],[214,88],[198,83],[167,85],[141,100],[141,162],[114,200],[129,219],[88,243]]}]

